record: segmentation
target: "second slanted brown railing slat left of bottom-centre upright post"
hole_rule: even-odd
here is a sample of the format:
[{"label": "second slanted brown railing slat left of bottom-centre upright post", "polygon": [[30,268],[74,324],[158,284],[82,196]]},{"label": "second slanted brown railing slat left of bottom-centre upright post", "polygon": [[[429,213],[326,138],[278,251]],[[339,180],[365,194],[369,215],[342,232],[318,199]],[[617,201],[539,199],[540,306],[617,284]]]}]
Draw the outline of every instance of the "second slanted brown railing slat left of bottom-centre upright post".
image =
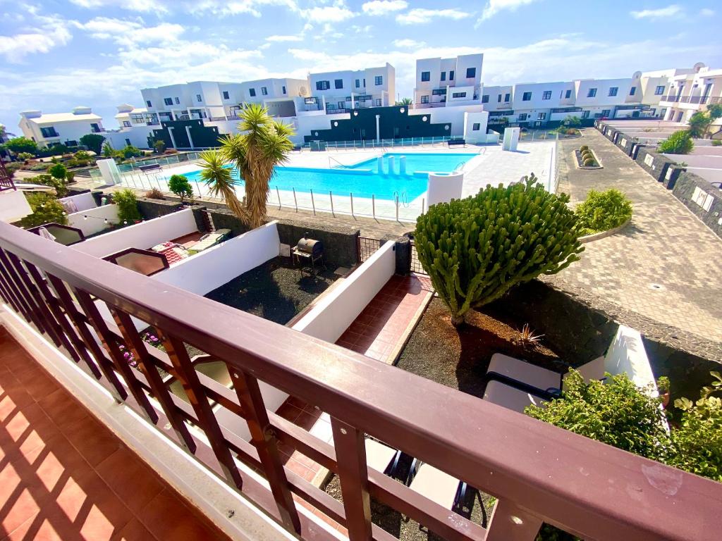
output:
[{"label": "second slanted brown railing slat left of bottom-centre upright post", "polygon": [[183,390],[188,395],[188,401],[196,412],[199,427],[205,432],[211,448],[213,449],[219,465],[223,470],[225,478],[238,488],[243,487],[243,479],[240,477],[238,466],[235,464],[230,449],[218,425],[216,416],[208,402],[206,392],[198,379],[196,369],[193,368],[191,358],[186,351],[183,340],[167,333],[165,330],[157,329],[159,338],[162,339],[165,351],[168,353],[170,362],[178,374],[178,379],[183,385]]}]

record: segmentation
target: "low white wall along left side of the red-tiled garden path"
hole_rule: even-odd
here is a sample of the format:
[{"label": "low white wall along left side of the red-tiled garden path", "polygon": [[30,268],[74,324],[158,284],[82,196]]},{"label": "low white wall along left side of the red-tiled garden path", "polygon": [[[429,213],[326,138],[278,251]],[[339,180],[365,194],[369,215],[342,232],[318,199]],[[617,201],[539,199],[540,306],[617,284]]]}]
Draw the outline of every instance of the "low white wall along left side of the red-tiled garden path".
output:
[{"label": "low white wall along left side of the red-tiled garden path", "polygon": [[303,316],[293,329],[334,343],[396,270],[394,243],[386,242],[363,265]]}]

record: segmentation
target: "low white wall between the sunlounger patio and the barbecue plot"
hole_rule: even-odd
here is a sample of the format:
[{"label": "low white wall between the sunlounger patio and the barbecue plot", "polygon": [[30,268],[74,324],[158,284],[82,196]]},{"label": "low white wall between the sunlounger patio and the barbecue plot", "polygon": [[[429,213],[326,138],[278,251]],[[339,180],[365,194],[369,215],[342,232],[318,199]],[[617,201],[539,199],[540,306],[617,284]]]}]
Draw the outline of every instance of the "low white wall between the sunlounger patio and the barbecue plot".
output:
[{"label": "low white wall between the sunlounger patio and the barbecue plot", "polygon": [[279,255],[276,221],[210,247],[154,274],[152,278],[205,295],[236,276]]}]

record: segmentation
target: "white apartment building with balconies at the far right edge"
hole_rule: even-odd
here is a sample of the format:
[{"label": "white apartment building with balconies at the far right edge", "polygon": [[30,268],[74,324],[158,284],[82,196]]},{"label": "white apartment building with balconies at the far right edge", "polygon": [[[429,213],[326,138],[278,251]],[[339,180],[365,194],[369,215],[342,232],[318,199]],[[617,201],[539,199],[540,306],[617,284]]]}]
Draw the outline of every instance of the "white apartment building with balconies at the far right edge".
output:
[{"label": "white apartment building with balconies at the far right edge", "polygon": [[[710,69],[700,62],[689,72],[671,77],[659,106],[664,110],[664,120],[687,122],[713,103],[722,103],[722,69]],[[720,123],[718,120],[715,124]]]}]

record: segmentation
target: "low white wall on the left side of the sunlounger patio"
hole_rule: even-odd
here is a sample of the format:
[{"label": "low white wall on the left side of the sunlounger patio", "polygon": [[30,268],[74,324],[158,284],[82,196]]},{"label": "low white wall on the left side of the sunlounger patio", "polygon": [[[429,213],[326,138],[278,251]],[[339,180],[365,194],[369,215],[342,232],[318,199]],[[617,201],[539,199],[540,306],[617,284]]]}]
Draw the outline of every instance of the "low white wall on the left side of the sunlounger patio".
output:
[{"label": "low white wall on the left side of the sunlounger patio", "polygon": [[186,208],[183,211],[87,239],[72,247],[80,252],[95,255],[96,258],[104,258],[106,255],[119,252],[125,248],[147,250],[151,246],[160,244],[160,242],[177,239],[196,231],[198,231],[198,226],[193,218],[193,211]]}]

